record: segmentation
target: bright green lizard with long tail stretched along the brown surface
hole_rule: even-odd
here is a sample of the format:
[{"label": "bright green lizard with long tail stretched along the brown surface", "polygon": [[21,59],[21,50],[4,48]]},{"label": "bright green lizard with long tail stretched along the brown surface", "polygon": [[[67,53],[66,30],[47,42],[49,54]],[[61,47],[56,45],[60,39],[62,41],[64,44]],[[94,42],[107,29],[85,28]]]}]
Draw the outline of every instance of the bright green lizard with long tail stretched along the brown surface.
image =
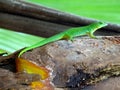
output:
[{"label": "bright green lizard with long tail stretched along the brown surface", "polygon": [[61,32],[59,34],[56,34],[56,35],[51,36],[49,38],[46,38],[43,41],[40,41],[40,42],[38,42],[38,43],[36,43],[34,45],[31,45],[31,46],[23,49],[19,53],[18,57],[20,57],[24,52],[26,52],[28,50],[43,46],[43,45],[45,45],[47,43],[54,42],[54,41],[57,41],[57,40],[60,40],[60,39],[72,40],[74,37],[82,36],[82,35],[88,35],[91,38],[96,38],[93,33],[97,29],[102,28],[104,26],[107,26],[107,24],[104,23],[104,22],[95,22],[95,23],[92,23],[92,24],[90,24],[88,26],[68,29],[66,31],[63,31],[63,32]]}]

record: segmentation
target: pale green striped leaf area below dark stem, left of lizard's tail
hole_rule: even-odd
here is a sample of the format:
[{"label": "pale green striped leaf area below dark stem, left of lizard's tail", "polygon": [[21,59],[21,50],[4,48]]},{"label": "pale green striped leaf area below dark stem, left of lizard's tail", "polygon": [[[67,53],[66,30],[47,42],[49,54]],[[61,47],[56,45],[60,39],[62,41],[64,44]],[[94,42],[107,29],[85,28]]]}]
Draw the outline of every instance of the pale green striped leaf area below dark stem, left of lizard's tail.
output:
[{"label": "pale green striped leaf area below dark stem, left of lizard's tail", "polygon": [[35,44],[44,38],[29,34],[0,29],[0,49],[9,53]]}]

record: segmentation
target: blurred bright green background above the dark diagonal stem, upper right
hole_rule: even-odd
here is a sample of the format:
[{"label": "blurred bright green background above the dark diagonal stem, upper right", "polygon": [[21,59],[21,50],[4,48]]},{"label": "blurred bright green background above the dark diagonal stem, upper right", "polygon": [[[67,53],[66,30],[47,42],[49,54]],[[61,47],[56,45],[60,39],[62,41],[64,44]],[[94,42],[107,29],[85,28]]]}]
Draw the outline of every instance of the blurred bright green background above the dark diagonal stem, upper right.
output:
[{"label": "blurred bright green background above the dark diagonal stem, upper right", "polygon": [[120,24],[120,0],[27,0],[83,17]]}]

